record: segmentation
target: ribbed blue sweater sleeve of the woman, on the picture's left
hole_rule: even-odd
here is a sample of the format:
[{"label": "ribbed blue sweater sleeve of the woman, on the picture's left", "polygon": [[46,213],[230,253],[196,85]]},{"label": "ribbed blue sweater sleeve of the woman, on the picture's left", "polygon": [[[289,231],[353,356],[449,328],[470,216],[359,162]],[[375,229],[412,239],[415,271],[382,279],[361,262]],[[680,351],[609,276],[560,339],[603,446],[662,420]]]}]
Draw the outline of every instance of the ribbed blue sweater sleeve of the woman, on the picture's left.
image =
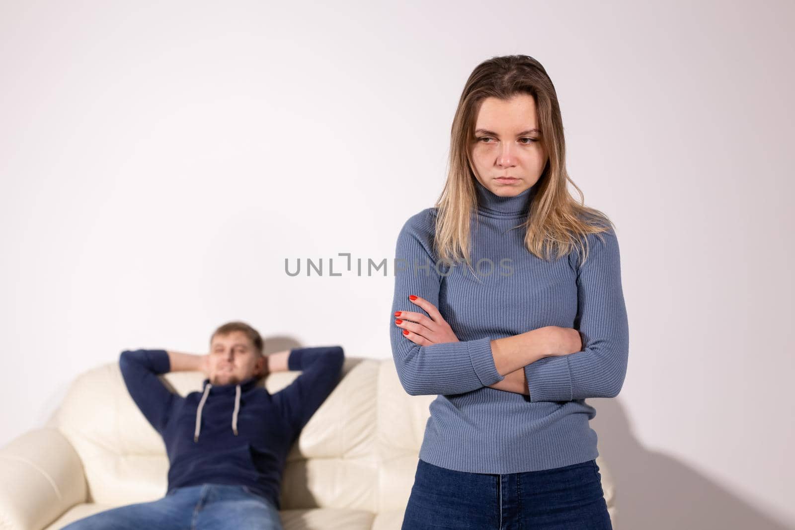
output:
[{"label": "ribbed blue sweater sleeve of the woman, on the picture's left", "polygon": [[395,249],[390,339],[397,375],[403,389],[412,396],[465,393],[504,378],[494,366],[490,337],[420,346],[406,339],[402,328],[394,323],[395,311],[428,316],[409,300],[409,295],[421,296],[439,308],[439,289],[446,268],[444,264],[437,268],[433,257],[435,216],[431,211],[421,211],[405,222]]}]

